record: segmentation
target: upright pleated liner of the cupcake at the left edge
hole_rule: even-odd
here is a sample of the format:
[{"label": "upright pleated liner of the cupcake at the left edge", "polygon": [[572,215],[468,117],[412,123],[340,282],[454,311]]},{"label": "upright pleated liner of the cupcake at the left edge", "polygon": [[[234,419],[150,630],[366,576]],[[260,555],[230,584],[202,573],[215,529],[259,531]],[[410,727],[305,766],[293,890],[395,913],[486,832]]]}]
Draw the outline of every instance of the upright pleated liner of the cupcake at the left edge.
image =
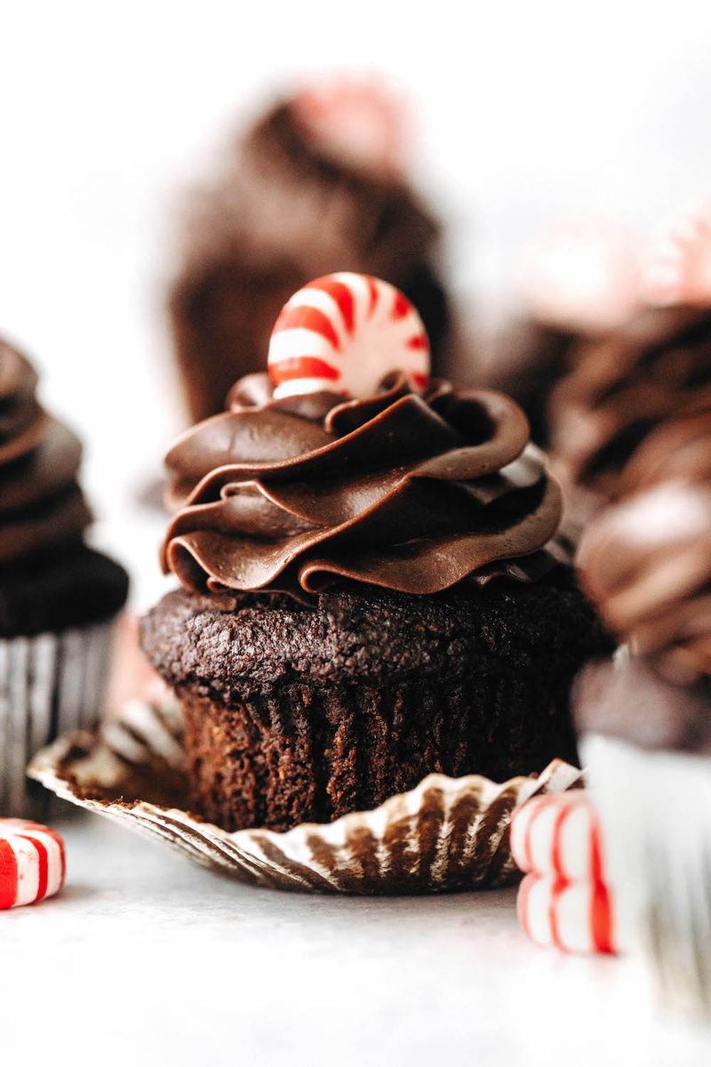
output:
[{"label": "upright pleated liner of the cupcake at the left edge", "polygon": [[98,718],[113,621],[0,640],[0,812],[39,817],[46,795],[28,781],[31,757]]}]

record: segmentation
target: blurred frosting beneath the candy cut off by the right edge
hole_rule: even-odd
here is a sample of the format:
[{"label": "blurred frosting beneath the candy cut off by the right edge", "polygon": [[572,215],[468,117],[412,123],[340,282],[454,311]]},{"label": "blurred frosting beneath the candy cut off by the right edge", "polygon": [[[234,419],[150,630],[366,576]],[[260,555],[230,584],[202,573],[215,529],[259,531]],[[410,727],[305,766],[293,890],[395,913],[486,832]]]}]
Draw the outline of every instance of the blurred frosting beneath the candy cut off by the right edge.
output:
[{"label": "blurred frosting beneath the candy cut off by the right edge", "polygon": [[643,312],[571,367],[550,400],[551,450],[565,480],[614,499],[647,434],[711,398],[711,309]]}]

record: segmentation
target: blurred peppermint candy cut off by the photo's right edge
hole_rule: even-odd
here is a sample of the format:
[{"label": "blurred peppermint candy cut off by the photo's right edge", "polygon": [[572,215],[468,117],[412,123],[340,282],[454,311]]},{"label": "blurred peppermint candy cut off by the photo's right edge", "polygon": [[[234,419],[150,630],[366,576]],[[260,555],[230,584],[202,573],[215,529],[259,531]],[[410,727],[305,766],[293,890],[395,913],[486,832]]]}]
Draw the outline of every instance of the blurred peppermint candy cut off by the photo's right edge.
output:
[{"label": "blurred peppermint candy cut off by the photo's right edge", "polygon": [[642,284],[650,304],[711,307],[711,201],[691,205],[659,228]]}]

